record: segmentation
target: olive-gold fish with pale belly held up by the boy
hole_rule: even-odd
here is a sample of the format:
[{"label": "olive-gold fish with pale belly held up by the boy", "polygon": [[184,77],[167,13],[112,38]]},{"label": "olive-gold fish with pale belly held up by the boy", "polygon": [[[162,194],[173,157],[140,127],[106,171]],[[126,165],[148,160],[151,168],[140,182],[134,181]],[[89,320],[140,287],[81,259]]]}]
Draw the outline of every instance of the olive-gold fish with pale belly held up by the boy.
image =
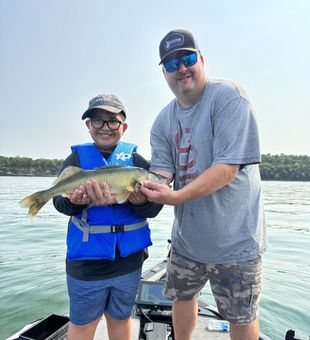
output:
[{"label": "olive-gold fish with pale belly held up by the boy", "polygon": [[94,170],[68,166],[56,178],[53,186],[23,198],[19,204],[29,209],[29,217],[34,217],[51,198],[60,195],[69,197],[76,188],[85,185],[88,180],[97,180],[99,184],[107,183],[119,204],[126,202],[135,186],[145,180],[168,184],[166,177],[134,166],[104,166]]}]

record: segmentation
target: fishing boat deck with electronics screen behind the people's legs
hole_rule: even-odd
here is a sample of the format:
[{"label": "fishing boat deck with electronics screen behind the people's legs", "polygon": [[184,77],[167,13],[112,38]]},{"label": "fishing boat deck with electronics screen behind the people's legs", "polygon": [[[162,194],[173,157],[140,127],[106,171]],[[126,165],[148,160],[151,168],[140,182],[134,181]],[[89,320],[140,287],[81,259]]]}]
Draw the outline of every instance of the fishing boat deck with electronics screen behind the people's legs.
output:
[{"label": "fishing boat deck with electronics screen behind the people's legs", "polygon": [[[171,301],[162,294],[167,259],[144,271],[141,276],[136,305],[133,310],[134,340],[173,340]],[[64,340],[69,317],[52,314],[23,327],[7,340]],[[104,317],[100,320],[94,340],[108,339]],[[192,340],[228,340],[229,323],[217,309],[198,299],[198,320]],[[286,340],[294,340],[294,331],[288,331]],[[259,340],[271,340],[260,333]],[[297,339],[296,339],[297,340]]]}]

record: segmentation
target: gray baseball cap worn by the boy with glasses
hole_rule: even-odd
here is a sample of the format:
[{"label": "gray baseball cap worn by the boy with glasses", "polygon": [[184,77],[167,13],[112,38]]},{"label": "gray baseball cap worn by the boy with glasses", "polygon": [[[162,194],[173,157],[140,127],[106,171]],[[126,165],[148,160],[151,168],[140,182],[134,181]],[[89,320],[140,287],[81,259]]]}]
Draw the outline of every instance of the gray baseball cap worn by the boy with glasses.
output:
[{"label": "gray baseball cap worn by the boy with glasses", "polygon": [[126,117],[122,102],[114,94],[99,94],[89,101],[88,109],[83,113],[82,119],[90,117],[94,109],[102,109],[112,113],[122,113]]}]

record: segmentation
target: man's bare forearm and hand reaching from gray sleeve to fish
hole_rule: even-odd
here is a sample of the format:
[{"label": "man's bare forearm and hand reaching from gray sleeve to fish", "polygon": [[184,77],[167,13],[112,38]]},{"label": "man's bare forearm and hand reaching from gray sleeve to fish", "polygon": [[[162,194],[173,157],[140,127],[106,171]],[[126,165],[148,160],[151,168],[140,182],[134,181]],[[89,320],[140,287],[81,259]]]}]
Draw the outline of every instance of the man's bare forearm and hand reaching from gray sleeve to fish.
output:
[{"label": "man's bare forearm and hand reaching from gray sleeve to fish", "polygon": [[173,190],[165,184],[145,181],[141,192],[151,202],[179,205],[222,189],[236,178],[239,168],[239,164],[215,164],[179,190]]}]

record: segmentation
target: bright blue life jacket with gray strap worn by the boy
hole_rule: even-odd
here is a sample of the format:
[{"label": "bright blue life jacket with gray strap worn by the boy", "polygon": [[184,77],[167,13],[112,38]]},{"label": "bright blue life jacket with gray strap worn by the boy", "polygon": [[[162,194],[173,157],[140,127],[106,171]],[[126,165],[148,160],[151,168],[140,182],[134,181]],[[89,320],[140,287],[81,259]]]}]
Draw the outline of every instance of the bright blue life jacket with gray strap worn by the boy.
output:
[{"label": "bright blue life jacket with gray strap worn by the boy", "polygon": [[[77,152],[81,168],[92,170],[106,165],[133,166],[132,153],[137,146],[119,142],[107,160],[93,143],[71,149]],[[67,260],[114,260],[116,246],[120,255],[126,257],[152,245],[150,233],[147,220],[129,204],[90,205],[69,220]]]}]

